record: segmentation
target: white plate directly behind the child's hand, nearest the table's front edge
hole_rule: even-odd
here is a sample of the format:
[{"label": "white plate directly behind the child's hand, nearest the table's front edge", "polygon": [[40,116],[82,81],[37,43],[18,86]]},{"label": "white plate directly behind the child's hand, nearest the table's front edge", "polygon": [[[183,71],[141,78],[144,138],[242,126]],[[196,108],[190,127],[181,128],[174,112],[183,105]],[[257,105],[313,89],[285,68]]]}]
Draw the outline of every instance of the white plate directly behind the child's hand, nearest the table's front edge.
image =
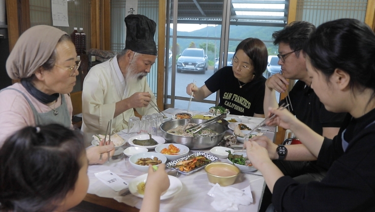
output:
[{"label": "white plate directly behind the child's hand, nearest the table's front edge", "polygon": [[[178,194],[182,190],[182,183],[180,180],[178,180],[175,176],[171,176],[171,175],[168,175],[168,178],[169,178],[169,183],[170,183],[169,188],[162,196],[160,196],[160,200],[169,199],[175,196],[176,194]],[[137,178],[133,179],[129,184],[130,193],[132,193],[134,196],[143,198],[144,195],[138,193],[137,185],[141,182],[146,182],[146,180],[147,180],[147,174],[142,174],[140,176],[137,176]],[[152,183],[152,182],[148,182],[148,183]]]}]

